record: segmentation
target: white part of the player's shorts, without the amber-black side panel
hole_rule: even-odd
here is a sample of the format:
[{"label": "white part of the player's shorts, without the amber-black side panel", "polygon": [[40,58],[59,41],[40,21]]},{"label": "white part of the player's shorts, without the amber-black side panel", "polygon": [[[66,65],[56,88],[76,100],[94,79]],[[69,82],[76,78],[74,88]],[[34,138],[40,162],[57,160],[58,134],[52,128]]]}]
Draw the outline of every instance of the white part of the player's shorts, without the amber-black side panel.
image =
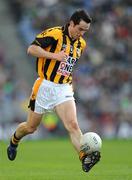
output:
[{"label": "white part of the player's shorts, without the amber-black side panel", "polygon": [[34,112],[43,114],[51,111],[65,101],[74,100],[73,94],[71,85],[56,84],[44,79],[36,95]]}]

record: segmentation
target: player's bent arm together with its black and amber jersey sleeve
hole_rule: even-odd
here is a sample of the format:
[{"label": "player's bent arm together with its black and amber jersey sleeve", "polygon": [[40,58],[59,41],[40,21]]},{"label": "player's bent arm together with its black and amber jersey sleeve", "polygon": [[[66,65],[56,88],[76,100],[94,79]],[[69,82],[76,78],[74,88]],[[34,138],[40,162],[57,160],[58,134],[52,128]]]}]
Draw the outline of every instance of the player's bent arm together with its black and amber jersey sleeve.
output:
[{"label": "player's bent arm together with its black and amber jersey sleeve", "polygon": [[51,28],[38,34],[28,47],[27,53],[38,58],[55,59],[58,61],[66,60],[67,54],[64,50],[58,53],[47,51],[47,47],[52,47],[58,42],[60,32],[59,28]]}]

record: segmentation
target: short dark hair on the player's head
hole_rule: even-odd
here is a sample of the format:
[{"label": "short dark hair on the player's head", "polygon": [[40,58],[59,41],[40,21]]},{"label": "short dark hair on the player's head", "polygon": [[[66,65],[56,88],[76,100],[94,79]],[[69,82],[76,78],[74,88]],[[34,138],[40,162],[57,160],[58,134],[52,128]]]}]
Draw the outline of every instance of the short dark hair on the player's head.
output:
[{"label": "short dark hair on the player's head", "polygon": [[91,17],[85,10],[77,10],[70,17],[70,21],[73,21],[75,25],[79,24],[81,20],[85,21],[86,23],[92,22]]}]

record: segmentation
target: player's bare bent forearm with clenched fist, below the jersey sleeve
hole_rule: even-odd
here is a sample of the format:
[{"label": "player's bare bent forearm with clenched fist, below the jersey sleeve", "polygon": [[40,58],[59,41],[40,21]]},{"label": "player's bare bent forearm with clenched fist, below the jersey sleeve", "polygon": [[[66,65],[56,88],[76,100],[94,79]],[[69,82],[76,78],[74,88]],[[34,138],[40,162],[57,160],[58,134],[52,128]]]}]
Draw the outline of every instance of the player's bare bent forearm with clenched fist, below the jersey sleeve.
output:
[{"label": "player's bare bent forearm with clenched fist, below the jersey sleeve", "polygon": [[42,57],[46,59],[55,59],[58,61],[64,61],[67,58],[67,54],[65,53],[65,50],[62,50],[58,53],[52,53],[44,50],[39,45],[32,44],[28,47],[27,53],[35,56],[35,57]]}]

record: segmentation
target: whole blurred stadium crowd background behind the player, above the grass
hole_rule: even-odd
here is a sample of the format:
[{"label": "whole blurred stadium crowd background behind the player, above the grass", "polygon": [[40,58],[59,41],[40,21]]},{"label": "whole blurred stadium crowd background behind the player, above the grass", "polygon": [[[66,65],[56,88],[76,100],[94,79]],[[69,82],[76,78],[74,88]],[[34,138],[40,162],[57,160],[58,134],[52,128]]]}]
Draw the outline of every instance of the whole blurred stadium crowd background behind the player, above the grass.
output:
[{"label": "whole blurred stadium crowd background behind the player, above the grass", "polygon": [[[26,119],[36,78],[28,45],[43,29],[63,25],[85,8],[93,18],[88,49],[74,72],[81,129],[105,138],[132,138],[132,1],[1,0],[0,1],[0,140],[7,140]],[[54,114],[46,115],[29,139],[65,136]]]}]

